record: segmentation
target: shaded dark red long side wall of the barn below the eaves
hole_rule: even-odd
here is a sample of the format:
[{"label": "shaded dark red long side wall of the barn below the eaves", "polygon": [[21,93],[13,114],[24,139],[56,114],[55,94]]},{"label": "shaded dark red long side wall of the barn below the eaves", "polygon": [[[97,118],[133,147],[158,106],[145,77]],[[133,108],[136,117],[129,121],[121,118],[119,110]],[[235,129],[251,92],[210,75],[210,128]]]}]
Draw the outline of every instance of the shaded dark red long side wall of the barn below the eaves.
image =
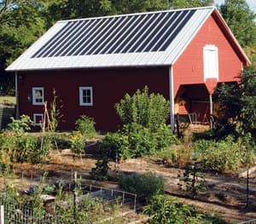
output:
[{"label": "shaded dark red long side wall of the barn below the eaves", "polygon": [[[21,76],[20,76],[21,75]],[[43,106],[32,106],[27,100],[32,87],[44,87],[44,101],[52,101],[53,89],[63,107],[61,129],[73,129],[75,120],[86,114],[96,120],[102,131],[117,129],[119,118],[114,104],[125,93],[134,93],[145,85],[169,99],[168,68],[122,68],[105,70],[59,70],[20,73],[18,79],[20,115],[43,112]],[[79,86],[92,86],[93,106],[79,106]]]}]

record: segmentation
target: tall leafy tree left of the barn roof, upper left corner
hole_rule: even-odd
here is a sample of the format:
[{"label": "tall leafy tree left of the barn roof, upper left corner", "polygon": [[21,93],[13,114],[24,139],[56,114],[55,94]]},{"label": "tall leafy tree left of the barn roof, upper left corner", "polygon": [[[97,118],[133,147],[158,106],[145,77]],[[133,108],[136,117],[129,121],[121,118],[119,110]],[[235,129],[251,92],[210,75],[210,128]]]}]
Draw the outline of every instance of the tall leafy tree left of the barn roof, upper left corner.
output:
[{"label": "tall leafy tree left of the barn roof, upper left corner", "polygon": [[44,31],[42,4],[33,0],[0,1],[0,93],[13,92],[14,77],[4,69]]}]

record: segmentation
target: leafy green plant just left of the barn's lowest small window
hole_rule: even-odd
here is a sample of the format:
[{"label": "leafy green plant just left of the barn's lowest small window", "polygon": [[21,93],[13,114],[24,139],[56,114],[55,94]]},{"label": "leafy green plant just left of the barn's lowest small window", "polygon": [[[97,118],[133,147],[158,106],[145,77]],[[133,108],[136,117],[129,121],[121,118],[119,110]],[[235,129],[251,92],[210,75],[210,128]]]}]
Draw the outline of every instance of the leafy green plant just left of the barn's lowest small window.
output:
[{"label": "leafy green plant just left of the barn's lowest small window", "polygon": [[8,124],[8,129],[15,132],[16,135],[22,135],[31,130],[32,120],[26,116],[21,115],[20,119],[11,118],[11,123]]}]

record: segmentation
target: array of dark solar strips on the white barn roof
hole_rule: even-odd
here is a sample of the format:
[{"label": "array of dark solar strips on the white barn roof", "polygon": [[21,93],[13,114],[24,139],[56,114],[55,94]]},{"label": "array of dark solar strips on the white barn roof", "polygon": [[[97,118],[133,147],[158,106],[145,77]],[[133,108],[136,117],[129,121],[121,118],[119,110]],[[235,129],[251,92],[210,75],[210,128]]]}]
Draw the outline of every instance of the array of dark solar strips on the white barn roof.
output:
[{"label": "array of dark solar strips on the white barn roof", "polygon": [[67,21],[32,58],[165,51],[195,9]]}]

